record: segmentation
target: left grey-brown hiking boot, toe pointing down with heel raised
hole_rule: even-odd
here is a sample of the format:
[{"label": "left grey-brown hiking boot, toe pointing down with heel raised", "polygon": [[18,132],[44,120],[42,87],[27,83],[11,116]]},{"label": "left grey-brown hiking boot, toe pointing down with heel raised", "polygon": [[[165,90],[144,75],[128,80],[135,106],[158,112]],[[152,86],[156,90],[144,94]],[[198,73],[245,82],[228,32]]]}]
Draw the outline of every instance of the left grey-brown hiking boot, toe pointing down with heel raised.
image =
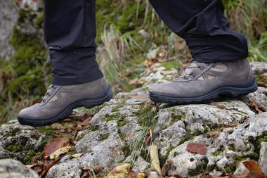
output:
[{"label": "left grey-brown hiking boot, toe pointing down with heel raised", "polygon": [[74,108],[93,108],[110,101],[112,91],[104,78],[75,85],[51,85],[41,103],[20,110],[21,125],[41,126],[63,120]]}]

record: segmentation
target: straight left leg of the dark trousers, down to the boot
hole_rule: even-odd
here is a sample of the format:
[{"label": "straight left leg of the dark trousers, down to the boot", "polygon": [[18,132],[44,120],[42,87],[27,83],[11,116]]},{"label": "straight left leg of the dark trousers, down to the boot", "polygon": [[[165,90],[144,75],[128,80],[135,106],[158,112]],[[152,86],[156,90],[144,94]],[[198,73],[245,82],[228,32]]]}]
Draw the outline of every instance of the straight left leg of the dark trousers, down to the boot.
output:
[{"label": "straight left leg of the dark trousers, down to the boot", "polygon": [[103,77],[96,63],[96,1],[46,0],[44,34],[53,64],[52,84]]}]

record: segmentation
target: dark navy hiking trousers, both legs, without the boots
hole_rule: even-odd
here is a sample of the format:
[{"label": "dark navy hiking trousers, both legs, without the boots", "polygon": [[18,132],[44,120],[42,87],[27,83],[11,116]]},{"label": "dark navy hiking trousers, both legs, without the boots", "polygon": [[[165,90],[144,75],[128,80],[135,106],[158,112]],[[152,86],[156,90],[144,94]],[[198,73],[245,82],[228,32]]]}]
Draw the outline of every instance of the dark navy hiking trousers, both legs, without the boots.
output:
[{"label": "dark navy hiking trousers, both legs, without the boots", "polygon": [[[221,0],[150,0],[168,27],[185,39],[193,60],[235,61],[248,55],[247,40],[230,30]],[[96,63],[96,0],[46,0],[45,39],[53,84],[103,77]]]}]

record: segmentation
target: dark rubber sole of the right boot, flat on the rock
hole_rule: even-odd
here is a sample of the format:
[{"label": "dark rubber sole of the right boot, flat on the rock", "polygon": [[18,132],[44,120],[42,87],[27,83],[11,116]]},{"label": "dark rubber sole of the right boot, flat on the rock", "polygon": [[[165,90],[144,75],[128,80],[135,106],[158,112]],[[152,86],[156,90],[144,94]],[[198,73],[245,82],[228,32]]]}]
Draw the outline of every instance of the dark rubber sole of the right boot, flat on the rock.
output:
[{"label": "dark rubber sole of the right boot, flat on the rock", "polygon": [[253,93],[258,89],[256,80],[251,80],[245,84],[223,84],[219,87],[214,87],[211,91],[202,94],[201,96],[181,97],[174,94],[165,94],[150,91],[150,99],[155,103],[170,103],[170,104],[189,104],[189,103],[204,103],[211,99],[219,98],[219,96],[245,96]]}]

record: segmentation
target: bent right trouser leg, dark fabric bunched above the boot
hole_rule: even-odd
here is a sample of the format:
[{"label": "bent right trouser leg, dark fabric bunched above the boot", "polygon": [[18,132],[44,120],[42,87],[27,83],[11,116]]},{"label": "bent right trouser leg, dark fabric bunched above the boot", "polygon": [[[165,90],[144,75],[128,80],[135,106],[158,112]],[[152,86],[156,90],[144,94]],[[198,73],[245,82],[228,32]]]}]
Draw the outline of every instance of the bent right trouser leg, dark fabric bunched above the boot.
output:
[{"label": "bent right trouser leg, dark fabric bunched above the boot", "polygon": [[247,39],[230,30],[221,0],[150,0],[169,28],[185,39],[195,61],[235,61],[248,55]]}]

